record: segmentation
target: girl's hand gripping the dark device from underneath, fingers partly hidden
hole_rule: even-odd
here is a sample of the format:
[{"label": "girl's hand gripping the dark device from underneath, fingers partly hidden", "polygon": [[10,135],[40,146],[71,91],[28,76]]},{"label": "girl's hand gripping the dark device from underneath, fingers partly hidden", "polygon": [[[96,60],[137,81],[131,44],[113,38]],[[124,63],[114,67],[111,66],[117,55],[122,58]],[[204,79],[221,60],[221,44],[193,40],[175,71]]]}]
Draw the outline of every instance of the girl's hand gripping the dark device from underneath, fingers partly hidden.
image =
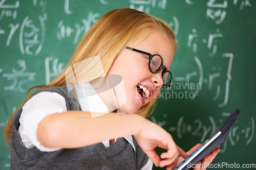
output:
[{"label": "girl's hand gripping the dark device from underneath, fingers partly hidden", "polygon": [[[191,148],[191,149],[187,152],[187,154],[190,155],[191,153],[193,153],[194,151],[196,151],[196,149],[197,149],[198,147],[200,147],[200,145],[201,145],[200,143],[196,144],[195,147]],[[212,160],[214,160],[214,158],[216,157],[216,155],[217,155],[219,152],[220,152],[220,148],[216,148],[216,149],[215,149],[214,151],[212,151],[210,154],[208,154],[207,156],[205,156],[202,161],[197,162],[197,164],[195,164],[195,166],[193,165],[193,166],[195,167],[194,170],[205,170],[205,169],[207,168],[207,166],[212,162]],[[178,164],[180,164],[183,160],[184,160],[184,158],[179,157],[176,166],[177,166]]]}]

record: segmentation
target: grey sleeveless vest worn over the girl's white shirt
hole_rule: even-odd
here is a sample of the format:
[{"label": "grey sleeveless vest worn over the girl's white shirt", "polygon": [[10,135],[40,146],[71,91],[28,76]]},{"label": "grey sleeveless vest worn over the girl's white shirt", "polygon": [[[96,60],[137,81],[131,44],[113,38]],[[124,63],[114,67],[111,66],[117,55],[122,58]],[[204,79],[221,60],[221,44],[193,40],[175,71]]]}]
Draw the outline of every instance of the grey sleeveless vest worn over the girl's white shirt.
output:
[{"label": "grey sleeveless vest worn over the girl's white shirt", "polygon": [[[57,92],[62,95],[66,100],[67,110],[81,110],[76,100],[76,92],[70,84],[41,89],[35,94],[42,91]],[[148,160],[134,137],[136,152],[124,138],[117,139],[108,148],[105,148],[104,144],[100,142],[88,147],[60,149],[54,152],[41,152],[36,147],[27,149],[18,133],[21,113],[22,108],[13,119],[11,169],[141,169]]]}]

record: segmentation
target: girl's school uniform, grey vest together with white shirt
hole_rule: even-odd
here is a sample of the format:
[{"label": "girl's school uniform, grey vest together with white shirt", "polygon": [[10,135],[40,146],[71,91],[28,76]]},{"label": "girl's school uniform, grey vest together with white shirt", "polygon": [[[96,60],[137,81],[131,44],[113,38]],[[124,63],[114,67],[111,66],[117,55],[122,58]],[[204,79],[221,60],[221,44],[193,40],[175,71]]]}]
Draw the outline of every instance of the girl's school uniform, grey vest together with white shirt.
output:
[{"label": "girl's school uniform, grey vest together with white shirt", "polygon": [[108,113],[91,84],[83,85],[88,88],[68,84],[41,89],[17,112],[10,140],[11,169],[152,169],[153,162],[132,135],[116,138],[112,145],[105,140],[76,149],[40,144],[37,126],[47,115],[69,110]]}]

